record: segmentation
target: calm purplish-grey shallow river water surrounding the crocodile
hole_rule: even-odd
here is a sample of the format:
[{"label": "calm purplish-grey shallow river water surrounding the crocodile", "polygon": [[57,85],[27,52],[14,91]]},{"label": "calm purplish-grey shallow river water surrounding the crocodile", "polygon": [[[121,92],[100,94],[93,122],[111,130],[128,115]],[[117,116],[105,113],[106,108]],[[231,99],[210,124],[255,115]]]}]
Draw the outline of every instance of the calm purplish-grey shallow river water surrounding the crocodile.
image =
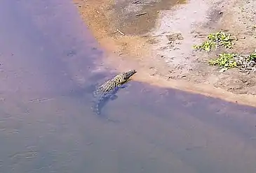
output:
[{"label": "calm purplish-grey shallow river water surrounding the crocodile", "polygon": [[255,108],[131,81],[97,116],[113,74],[72,2],[0,13],[0,172],[256,172]]}]

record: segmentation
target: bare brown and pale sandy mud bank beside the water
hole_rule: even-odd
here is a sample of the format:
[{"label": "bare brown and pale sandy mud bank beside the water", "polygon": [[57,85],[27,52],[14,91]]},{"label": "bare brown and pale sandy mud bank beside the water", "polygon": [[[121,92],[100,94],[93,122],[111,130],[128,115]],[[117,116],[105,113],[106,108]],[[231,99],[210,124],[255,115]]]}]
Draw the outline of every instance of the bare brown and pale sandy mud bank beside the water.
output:
[{"label": "bare brown and pale sandy mud bank beside the water", "polygon": [[[192,46],[224,29],[238,40],[232,52],[255,50],[256,1],[74,0],[81,17],[109,52],[103,63],[117,70],[136,68],[135,80],[256,106],[255,74],[220,73],[211,53]],[[145,14],[144,14],[145,13]],[[226,51],[226,50],[222,50]]]}]

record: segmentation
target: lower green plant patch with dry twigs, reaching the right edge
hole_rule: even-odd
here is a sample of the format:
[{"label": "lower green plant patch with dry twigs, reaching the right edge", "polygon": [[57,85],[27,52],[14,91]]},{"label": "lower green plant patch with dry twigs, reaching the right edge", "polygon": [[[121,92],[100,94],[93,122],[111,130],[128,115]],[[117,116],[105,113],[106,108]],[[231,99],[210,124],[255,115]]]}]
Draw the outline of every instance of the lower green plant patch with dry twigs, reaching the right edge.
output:
[{"label": "lower green plant patch with dry twigs, reaching the right edge", "polygon": [[210,66],[220,66],[222,72],[230,68],[240,68],[241,71],[256,71],[256,52],[252,54],[218,54],[217,59],[209,61]]}]

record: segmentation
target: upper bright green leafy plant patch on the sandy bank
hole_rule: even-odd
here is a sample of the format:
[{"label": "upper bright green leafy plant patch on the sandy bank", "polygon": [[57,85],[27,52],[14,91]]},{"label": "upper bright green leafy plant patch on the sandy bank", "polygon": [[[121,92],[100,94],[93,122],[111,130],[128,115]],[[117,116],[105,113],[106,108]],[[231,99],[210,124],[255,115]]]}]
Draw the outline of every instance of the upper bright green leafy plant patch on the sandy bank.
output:
[{"label": "upper bright green leafy plant patch on the sandy bank", "polygon": [[203,50],[206,52],[210,52],[213,48],[217,47],[225,47],[225,48],[233,48],[234,43],[232,40],[236,40],[236,37],[231,36],[230,33],[225,33],[224,31],[220,31],[217,33],[210,33],[207,36],[208,40],[199,45],[194,45],[194,50]]}]

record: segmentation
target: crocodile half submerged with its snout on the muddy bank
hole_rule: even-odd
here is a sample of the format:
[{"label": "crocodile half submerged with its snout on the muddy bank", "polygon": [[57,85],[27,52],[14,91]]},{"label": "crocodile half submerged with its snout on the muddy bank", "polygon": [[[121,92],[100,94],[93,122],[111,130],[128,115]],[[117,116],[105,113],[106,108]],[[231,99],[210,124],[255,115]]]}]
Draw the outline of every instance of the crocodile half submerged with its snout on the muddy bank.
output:
[{"label": "crocodile half submerged with its snout on the muddy bank", "polygon": [[128,70],[123,73],[119,73],[111,80],[107,80],[104,84],[101,84],[99,87],[96,87],[95,91],[93,92],[93,96],[97,98],[95,103],[94,112],[96,114],[101,114],[102,107],[105,106],[107,101],[115,100],[117,98],[116,93],[119,89],[126,88],[123,84],[130,80],[136,70]]}]

